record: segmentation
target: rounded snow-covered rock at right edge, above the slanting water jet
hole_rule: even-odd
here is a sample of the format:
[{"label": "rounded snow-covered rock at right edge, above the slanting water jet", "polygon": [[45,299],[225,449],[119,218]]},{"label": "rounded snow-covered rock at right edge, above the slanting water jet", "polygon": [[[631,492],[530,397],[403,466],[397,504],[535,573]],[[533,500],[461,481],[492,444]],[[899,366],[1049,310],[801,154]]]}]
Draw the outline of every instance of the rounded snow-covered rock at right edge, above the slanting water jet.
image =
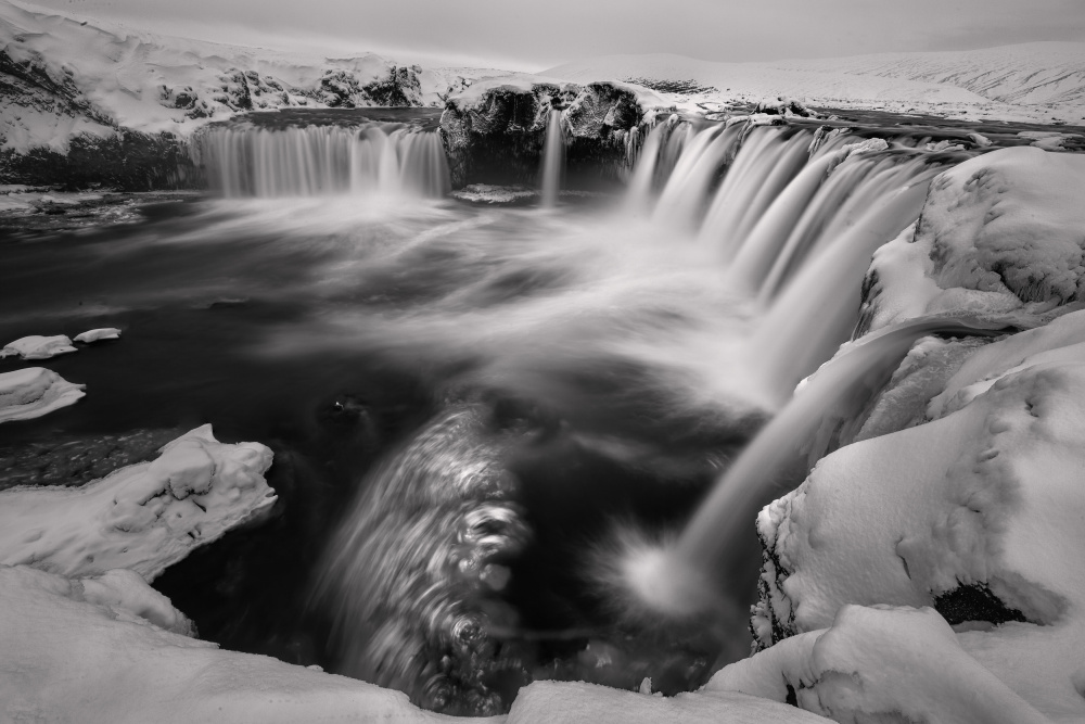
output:
[{"label": "rounded snow-covered rock at right edge, above the slanting water jet", "polygon": [[1031,327],[1085,302],[1085,156],[1020,147],[950,168],[875,254],[864,331],[928,314]]}]

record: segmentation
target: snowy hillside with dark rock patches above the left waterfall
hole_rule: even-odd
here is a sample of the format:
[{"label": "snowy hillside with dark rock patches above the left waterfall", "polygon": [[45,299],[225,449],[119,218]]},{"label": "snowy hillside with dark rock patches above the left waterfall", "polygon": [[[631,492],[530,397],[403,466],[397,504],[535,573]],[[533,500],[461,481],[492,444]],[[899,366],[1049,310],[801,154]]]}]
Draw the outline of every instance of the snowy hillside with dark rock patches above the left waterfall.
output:
[{"label": "snowy hillside with dark rock patches above the left waterfall", "polygon": [[442,105],[494,73],[226,46],[0,0],[0,150],[64,153],[118,128],[184,136],[239,111]]}]

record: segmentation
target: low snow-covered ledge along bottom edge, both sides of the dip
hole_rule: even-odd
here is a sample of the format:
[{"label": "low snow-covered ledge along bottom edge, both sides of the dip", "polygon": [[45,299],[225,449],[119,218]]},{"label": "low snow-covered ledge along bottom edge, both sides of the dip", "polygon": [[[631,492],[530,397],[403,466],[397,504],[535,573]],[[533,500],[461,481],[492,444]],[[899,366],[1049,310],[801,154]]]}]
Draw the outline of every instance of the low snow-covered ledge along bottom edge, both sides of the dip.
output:
[{"label": "low snow-covered ledge along bottom edge, both sides of the dip", "polygon": [[[164,626],[173,625],[173,631]],[[144,722],[732,722],[824,721],[727,693],[673,699],[588,684],[539,682],[506,716],[423,711],[406,695],[184,634],[186,620],[138,576],[65,579],[0,566],[0,717]]]}]

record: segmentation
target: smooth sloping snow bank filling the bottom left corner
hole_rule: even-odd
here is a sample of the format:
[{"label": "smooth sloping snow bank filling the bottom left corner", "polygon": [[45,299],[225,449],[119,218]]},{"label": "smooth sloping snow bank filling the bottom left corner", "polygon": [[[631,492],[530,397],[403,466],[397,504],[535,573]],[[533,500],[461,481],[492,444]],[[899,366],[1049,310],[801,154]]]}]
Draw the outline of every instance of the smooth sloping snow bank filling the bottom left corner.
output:
[{"label": "smooth sloping snow bank filling the bottom left corner", "polygon": [[[111,573],[97,582],[69,581],[0,566],[0,719],[87,724],[472,721],[421,711],[398,691],[268,657],[222,651],[164,631],[153,625],[161,612],[132,607],[138,597],[130,589],[125,604],[108,600],[106,587],[125,589],[119,579]],[[139,584],[129,576],[125,585]],[[503,717],[487,721],[499,724]]]}]

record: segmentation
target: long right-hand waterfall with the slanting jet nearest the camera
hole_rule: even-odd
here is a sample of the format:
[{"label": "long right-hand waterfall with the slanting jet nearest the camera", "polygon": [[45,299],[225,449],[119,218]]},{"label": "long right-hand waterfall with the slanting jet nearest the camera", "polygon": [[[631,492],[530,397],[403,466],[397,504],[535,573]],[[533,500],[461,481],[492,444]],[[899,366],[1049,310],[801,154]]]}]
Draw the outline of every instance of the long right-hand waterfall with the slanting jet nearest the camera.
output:
[{"label": "long right-hand waterfall with the slanting jet nearest the camera", "polygon": [[[910,320],[825,363],[855,326],[873,252],[918,218],[931,179],[966,156],[926,152],[907,139],[863,140],[846,130],[688,125],[653,220],[668,230],[694,229],[690,243],[715,252],[724,283],[754,300],[752,332],[739,354],[780,412],[677,537],[626,547],[607,580],[618,581],[635,605],[672,618],[722,610],[716,572],[736,563],[741,554],[731,552],[740,548],[732,544],[820,421],[842,406],[854,411],[855,398],[883,383],[918,338],[979,331],[947,319]],[[635,166],[638,198],[646,193],[641,174],[659,174],[659,166],[655,157]]]}]

